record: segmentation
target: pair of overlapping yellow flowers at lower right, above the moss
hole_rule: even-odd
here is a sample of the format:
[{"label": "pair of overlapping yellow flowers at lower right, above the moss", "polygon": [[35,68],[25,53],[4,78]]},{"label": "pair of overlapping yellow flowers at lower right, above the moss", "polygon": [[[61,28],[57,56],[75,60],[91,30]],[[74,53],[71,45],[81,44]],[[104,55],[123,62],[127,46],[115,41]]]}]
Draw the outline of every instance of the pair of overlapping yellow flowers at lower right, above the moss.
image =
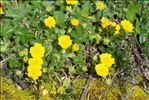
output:
[{"label": "pair of overlapping yellow flowers at lower right, above the moss", "polygon": [[95,66],[96,73],[102,77],[106,77],[109,73],[109,68],[115,64],[115,59],[109,53],[100,55],[100,63]]}]

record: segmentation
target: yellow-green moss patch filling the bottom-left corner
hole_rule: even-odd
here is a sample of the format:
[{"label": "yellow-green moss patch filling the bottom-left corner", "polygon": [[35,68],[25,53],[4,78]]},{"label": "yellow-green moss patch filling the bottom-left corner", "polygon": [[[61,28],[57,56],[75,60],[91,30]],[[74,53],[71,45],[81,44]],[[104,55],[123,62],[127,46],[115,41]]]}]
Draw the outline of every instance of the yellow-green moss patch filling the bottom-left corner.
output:
[{"label": "yellow-green moss patch filling the bottom-left corner", "polygon": [[23,91],[17,84],[13,83],[11,79],[1,78],[0,98],[1,100],[27,100],[31,99],[29,91]]}]

